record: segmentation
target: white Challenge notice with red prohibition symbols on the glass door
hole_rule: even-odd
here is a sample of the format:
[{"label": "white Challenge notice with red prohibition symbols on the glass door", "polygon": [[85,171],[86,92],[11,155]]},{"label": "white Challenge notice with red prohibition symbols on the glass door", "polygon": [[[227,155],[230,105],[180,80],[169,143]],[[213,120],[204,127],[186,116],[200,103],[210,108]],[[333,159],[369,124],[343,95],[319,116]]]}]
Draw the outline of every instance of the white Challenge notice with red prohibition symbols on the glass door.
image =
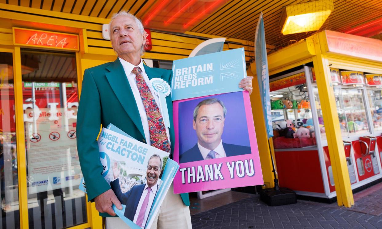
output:
[{"label": "white Challenge notice with red prohibition symbols on the glass door", "polygon": [[76,112],[75,107],[26,109],[29,194],[79,185]]}]

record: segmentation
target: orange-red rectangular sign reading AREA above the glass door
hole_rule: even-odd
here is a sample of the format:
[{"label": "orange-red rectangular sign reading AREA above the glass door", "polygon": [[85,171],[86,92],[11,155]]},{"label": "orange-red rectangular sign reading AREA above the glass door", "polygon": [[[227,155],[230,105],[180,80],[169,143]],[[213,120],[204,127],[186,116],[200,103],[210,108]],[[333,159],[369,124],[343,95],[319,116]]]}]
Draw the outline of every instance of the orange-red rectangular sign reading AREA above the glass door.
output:
[{"label": "orange-red rectangular sign reading AREA above the glass door", "polygon": [[40,48],[79,50],[78,35],[13,27],[13,44]]}]

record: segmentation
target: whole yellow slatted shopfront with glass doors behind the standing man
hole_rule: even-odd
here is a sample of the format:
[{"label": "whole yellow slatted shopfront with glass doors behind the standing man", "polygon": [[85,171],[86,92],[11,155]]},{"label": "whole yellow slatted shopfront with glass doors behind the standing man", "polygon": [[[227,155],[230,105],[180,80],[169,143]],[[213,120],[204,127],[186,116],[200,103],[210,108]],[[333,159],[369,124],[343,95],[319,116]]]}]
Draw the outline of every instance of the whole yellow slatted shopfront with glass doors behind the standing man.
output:
[{"label": "whole yellow slatted shopfront with glass doors behind the standing man", "polygon": [[[0,229],[102,227],[94,203],[78,189],[75,130],[84,70],[116,58],[102,37],[108,22],[0,3]],[[166,68],[214,37],[151,31],[152,50],[142,58]],[[249,61],[253,42],[227,38],[223,50],[239,47]]]}]

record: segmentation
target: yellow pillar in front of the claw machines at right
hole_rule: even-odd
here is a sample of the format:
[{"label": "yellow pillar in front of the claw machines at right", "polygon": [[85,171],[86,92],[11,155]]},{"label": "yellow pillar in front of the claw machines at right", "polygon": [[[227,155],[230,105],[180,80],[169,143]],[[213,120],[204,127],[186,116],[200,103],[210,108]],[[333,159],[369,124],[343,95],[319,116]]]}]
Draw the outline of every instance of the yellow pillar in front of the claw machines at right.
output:
[{"label": "yellow pillar in front of the claw machines at right", "polygon": [[324,40],[326,39],[325,33],[316,34],[311,39],[316,51],[316,56],[313,57],[313,65],[327,135],[330,162],[333,169],[337,203],[339,206],[351,207],[354,205],[353,192],[351,191],[350,177],[346,165],[340,122],[338,121],[332,79],[330,77],[329,61],[321,51],[325,50],[322,47],[326,44]]}]

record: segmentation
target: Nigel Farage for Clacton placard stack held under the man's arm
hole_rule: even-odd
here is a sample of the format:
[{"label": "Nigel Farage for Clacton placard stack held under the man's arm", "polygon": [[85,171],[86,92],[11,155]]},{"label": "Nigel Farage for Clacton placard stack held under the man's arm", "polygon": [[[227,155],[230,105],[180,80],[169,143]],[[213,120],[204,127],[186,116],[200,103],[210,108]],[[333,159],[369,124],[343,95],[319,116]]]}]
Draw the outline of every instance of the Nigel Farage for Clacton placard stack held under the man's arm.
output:
[{"label": "Nigel Farage for Clacton placard stack held under the man's arm", "polygon": [[124,205],[123,210],[115,209],[116,214],[131,228],[150,228],[178,164],[168,158],[169,153],[131,138],[112,124],[108,128],[102,128],[98,147],[102,176]]}]

